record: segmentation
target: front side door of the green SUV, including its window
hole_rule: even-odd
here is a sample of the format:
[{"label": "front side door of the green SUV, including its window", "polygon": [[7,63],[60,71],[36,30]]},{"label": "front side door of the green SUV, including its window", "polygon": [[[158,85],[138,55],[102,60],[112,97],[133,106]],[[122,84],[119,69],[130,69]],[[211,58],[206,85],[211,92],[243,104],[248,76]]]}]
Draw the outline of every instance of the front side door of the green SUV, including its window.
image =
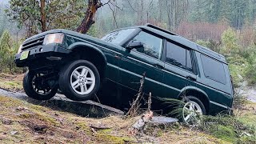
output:
[{"label": "front side door of the green SUV, including its window", "polygon": [[150,32],[141,31],[131,41],[142,42],[143,46],[136,50],[123,51],[119,65],[122,85],[138,90],[142,74],[146,73],[144,91],[146,94],[151,92],[154,96],[160,96],[163,94],[163,39]]}]

